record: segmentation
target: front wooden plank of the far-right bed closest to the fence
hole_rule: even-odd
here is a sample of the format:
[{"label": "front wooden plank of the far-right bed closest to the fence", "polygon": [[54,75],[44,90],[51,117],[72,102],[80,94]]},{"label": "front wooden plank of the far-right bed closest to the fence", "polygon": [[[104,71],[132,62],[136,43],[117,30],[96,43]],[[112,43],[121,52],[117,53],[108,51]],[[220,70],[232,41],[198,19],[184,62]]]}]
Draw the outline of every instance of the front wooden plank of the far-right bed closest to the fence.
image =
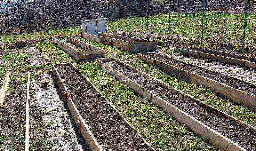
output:
[{"label": "front wooden plank of the far-right bed closest to the fence", "polygon": [[217,55],[217,54],[192,51],[192,50],[182,49],[182,48],[177,48],[177,47],[174,47],[174,51],[195,55],[197,57],[204,57],[204,58],[208,58],[208,59],[217,59],[217,60],[232,63],[232,64],[239,64],[239,65],[246,66],[246,67],[256,68],[256,63],[251,62],[251,61],[240,60],[240,59],[236,59],[236,58],[229,58],[229,57],[225,57],[225,56],[221,56],[221,55]]}]

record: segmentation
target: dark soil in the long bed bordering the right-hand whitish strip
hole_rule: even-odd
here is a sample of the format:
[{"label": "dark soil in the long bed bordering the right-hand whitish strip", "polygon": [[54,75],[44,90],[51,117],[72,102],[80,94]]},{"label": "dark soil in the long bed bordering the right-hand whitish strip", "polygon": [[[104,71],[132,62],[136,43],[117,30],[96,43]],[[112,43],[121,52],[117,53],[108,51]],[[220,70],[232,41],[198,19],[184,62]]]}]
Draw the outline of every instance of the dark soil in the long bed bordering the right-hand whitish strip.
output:
[{"label": "dark soil in the long bed bordering the right-hand whitish strip", "polygon": [[154,58],[156,60],[160,60],[163,61],[164,63],[168,63],[172,66],[184,69],[186,71],[192,72],[192,73],[196,73],[198,75],[210,78],[212,80],[218,81],[220,83],[226,84],[228,86],[234,87],[236,89],[245,91],[247,93],[256,95],[256,85],[255,84],[251,84],[227,75],[223,75],[220,73],[215,73],[212,71],[209,71],[205,68],[200,68],[200,67],[196,67],[192,64],[189,63],[184,63],[181,61],[177,61],[174,60],[172,58],[167,58],[165,56],[161,56],[159,54],[156,53],[148,53],[148,54],[144,54],[150,58]]}]

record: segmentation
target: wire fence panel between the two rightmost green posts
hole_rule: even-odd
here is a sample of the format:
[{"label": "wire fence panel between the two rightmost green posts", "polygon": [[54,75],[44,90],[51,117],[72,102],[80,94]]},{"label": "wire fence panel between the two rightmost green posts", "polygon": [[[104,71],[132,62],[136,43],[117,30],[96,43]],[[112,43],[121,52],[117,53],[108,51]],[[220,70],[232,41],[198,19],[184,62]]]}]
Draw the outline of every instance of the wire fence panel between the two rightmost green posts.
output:
[{"label": "wire fence panel between the two rightmost green posts", "polygon": [[204,41],[242,45],[245,3],[240,0],[206,0],[205,3]]}]

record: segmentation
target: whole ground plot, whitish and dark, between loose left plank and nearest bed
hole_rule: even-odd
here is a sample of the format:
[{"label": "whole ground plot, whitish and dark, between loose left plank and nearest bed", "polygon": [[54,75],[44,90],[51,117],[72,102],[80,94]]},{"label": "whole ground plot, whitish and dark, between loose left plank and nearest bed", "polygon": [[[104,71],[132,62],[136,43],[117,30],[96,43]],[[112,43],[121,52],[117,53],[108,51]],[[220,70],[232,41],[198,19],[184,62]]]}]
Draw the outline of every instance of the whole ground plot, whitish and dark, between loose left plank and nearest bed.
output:
[{"label": "whole ground plot, whitish and dark, between loose left plank and nearest bed", "polygon": [[[57,83],[53,82],[52,76],[42,74],[36,77],[31,84],[34,94],[31,96],[32,105],[30,107],[30,141],[41,137],[39,141],[51,144],[46,147],[34,145],[34,149],[89,151],[89,147],[77,133],[76,123],[67,104],[59,96],[56,90]],[[40,123],[47,124],[41,128]]]}]

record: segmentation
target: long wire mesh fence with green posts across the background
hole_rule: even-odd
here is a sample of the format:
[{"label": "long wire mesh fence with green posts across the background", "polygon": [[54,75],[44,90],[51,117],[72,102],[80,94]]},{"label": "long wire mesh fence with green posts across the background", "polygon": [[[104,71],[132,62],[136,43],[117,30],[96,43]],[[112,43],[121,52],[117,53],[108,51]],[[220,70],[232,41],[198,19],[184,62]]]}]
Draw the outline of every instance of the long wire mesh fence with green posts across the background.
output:
[{"label": "long wire mesh fence with green posts across the background", "polygon": [[19,34],[17,28],[12,28],[11,20],[10,29],[6,29],[9,32],[1,37],[2,41],[80,35],[82,20],[107,18],[108,29],[113,33],[179,36],[241,47],[256,45],[256,2],[251,0],[171,0],[162,4],[146,2],[63,13],[49,11],[34,16],[29,24],[18,22],[20,26],[35,28],[33,32]]}]

